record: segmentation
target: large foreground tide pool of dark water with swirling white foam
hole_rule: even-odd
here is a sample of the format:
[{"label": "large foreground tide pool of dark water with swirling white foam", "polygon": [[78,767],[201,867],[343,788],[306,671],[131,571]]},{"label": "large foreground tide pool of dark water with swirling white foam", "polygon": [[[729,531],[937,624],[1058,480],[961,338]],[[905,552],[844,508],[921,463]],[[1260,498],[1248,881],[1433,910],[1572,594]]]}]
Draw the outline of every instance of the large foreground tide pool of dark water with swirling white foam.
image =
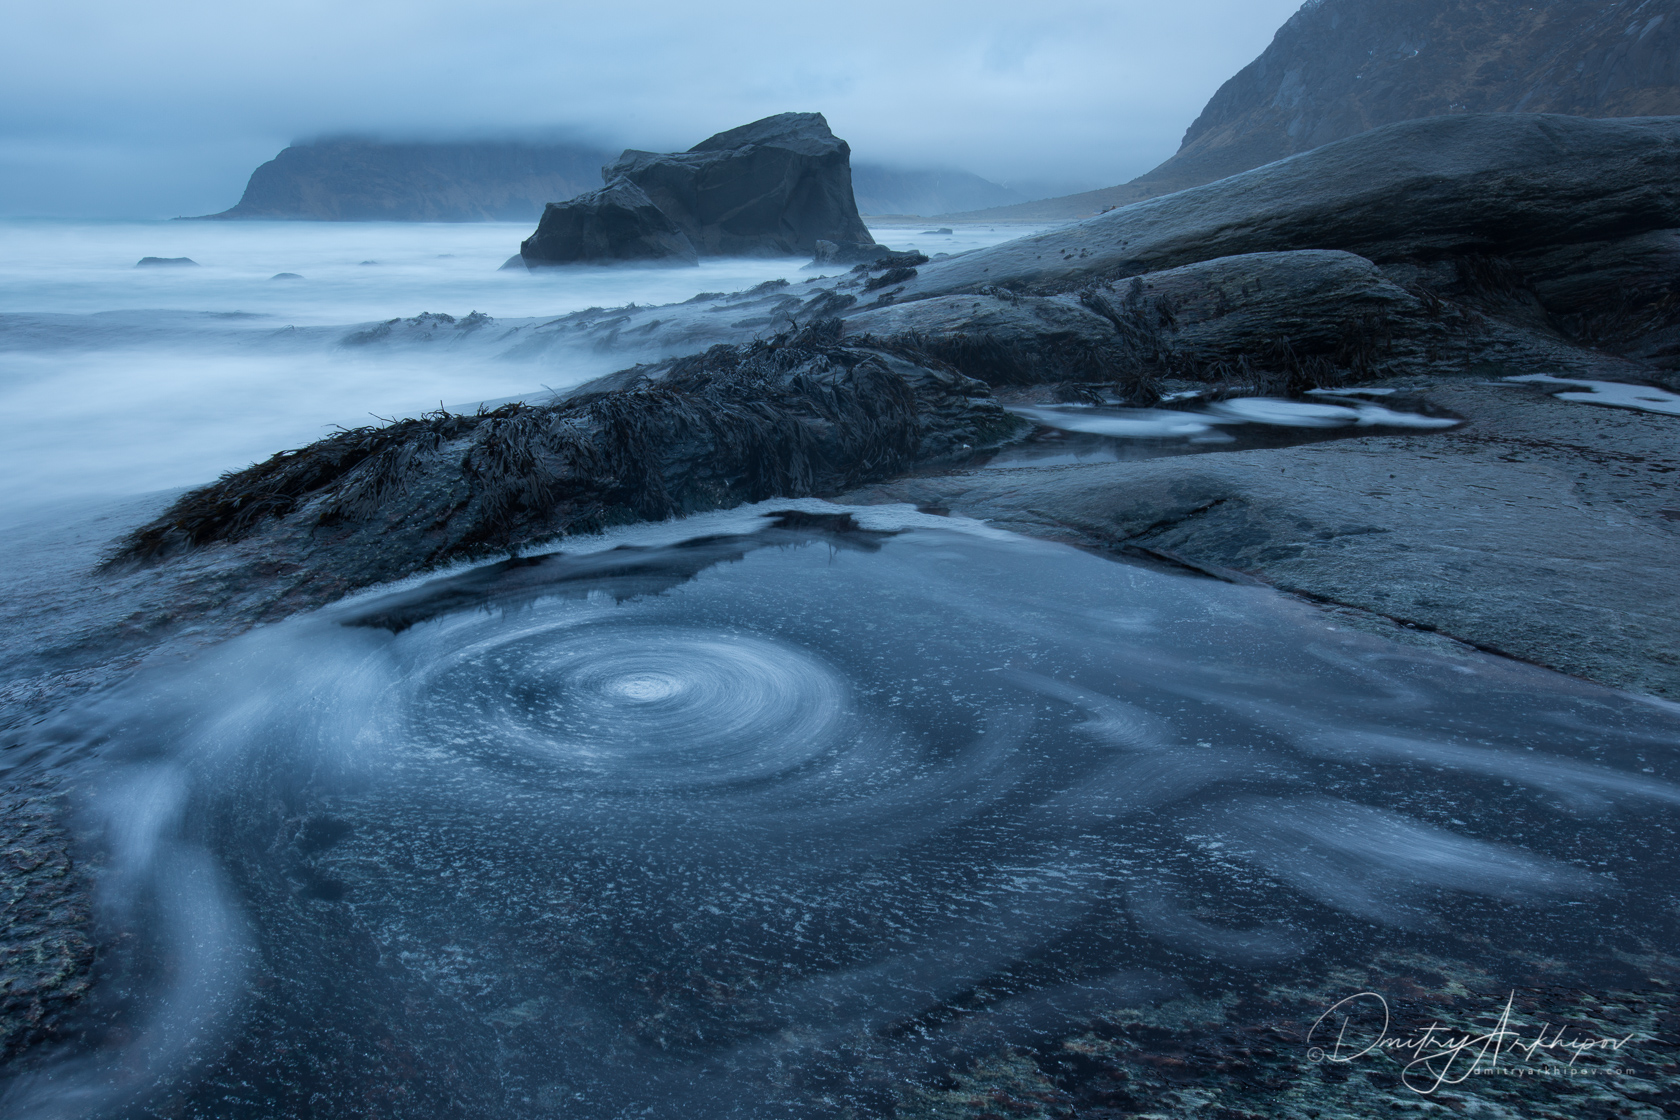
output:
[{"label": "large foreground tide pool of dark water with swirling white foam", "polygon": [[890,1115],[1242,977],[1673,945],[1672,709],[801,509],[361,596],[50,729],[113,949],[7,1115]]}]

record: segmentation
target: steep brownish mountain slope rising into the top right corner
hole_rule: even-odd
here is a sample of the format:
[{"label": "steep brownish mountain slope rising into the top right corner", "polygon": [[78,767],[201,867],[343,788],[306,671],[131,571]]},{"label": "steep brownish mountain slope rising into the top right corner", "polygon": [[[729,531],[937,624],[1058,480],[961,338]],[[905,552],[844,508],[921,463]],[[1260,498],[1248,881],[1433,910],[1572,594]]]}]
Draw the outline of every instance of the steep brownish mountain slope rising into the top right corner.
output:
[{"label": "steep brownish mountain slope rising into the top right corner", "polygon": [[1680,114],[1680,0],[1309,0],[1122,186],[983,212],[1072,218],[1450,113]]}]

